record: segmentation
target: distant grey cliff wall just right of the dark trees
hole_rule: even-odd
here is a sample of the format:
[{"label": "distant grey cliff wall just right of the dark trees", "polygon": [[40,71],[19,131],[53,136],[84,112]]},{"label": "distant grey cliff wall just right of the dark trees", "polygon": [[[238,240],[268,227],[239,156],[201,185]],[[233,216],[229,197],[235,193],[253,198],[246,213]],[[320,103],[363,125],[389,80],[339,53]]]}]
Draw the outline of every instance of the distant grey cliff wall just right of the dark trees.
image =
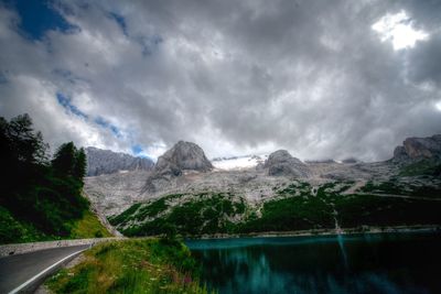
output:
[{"label": "distant grey cliff wall just right of the dark trees", "polygon": [[150,171],[154,164],[150,159],[135,157],[126,153],[93,146],[86,148],[86,155],[88,176],[112,174],[119,171]]}]

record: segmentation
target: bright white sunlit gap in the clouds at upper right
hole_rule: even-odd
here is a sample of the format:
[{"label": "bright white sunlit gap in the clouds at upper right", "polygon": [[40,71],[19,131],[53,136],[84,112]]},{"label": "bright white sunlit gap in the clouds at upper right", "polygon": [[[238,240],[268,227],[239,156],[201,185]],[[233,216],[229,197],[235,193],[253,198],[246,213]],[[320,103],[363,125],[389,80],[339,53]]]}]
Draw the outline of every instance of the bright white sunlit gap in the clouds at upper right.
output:
[{"label": "bright white sunlit gap in the clouds at upper right", "polygon": [[390,40],[397,51],[413,47],[417,41],[429,39],[428,33],[413,29],[412,24],[411,18],[401,10],[396,14],[386,14],[372,29],[380,35],[381,42]]}]

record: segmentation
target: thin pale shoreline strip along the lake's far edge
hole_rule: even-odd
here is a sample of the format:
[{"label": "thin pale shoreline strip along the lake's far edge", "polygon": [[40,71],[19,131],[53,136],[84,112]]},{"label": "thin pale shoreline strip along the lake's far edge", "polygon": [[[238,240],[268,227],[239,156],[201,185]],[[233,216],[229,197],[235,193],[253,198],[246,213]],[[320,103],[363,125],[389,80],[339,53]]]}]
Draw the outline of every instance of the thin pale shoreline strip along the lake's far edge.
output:
[{"label": "thin pale shoreline strip along the lake's far edge", "polygon": [[441,232],[441,225],[415,225],[415,226],[389,226],[389,227],[363,227],[345,229],[311,229],[295,231],[266,231],[249,233],[215,233],[184,237],[184,240],[214,240],[214,239],[238,239],[238,238],[278,238],[278,237],[314,237],[314,236],[344,236],[366,233],[404,233],[404,232]]}]

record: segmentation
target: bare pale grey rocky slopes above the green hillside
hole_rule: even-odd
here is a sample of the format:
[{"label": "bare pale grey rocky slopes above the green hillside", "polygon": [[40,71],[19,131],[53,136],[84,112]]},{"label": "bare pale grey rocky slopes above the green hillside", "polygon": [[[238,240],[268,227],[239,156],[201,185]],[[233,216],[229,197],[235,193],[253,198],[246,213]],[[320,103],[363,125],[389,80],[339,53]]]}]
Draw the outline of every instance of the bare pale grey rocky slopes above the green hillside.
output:
[{"label": "bare pale grey rocky slopes above the green hillside", "polygon": [[[169,152],[169,155],[171,153]],[[165,157],[173,157],[169,155]],[[306,182],[314,189],[330,182],[349,181],[354,183],[354,187],[364,186],[369,181],[387,182],[390,178],[401,178],[406,174],[404,168],[410,164],[396,160],[374,163],[356,160],[301,162],[287,151],[273,152],[265,164],[260,162],[256,166],[235,170],[185,170],[176,163],[170,163],[170,160],[165,160],[164,163],[159,160],[159,163],[152,171],[89,177],[86,179],[86,189],[90,195],[96,195],[94,198],[99,202],[103,211],[110,216],[121,213],[133,203],[160,198],[168,194],[228,192],[243,196],[249,203],[259,203],[277,197],[277,189],[289,185],[293,179]],[[421,174],[420,170],[413,170],[411,176]],[[415,182],[412,178],[407,177],[406,181]],[[438,179],[433,181],[434,184],[431,185],[438,185]]]}]

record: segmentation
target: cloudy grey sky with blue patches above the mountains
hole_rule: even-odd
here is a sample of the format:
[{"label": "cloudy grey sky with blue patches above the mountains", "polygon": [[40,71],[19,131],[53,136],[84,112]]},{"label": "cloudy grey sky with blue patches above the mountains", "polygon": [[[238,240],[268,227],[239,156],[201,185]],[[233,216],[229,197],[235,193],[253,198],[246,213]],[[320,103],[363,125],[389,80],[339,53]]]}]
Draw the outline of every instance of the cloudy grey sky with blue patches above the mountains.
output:
[{"label": "cloudy grey sky with blue patches above the mountains", "polygon": [[440,0],[0,0],[0,116],[158,157],[392,156],[441,133]]}]

